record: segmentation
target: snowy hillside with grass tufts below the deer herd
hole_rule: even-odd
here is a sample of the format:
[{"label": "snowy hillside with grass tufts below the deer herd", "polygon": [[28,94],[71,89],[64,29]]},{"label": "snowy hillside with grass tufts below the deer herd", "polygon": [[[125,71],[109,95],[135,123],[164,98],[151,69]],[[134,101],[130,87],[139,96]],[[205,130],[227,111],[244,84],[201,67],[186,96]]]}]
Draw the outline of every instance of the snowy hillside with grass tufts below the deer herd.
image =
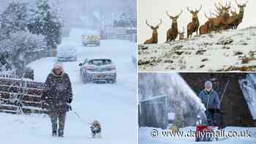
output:
[{"label": "snowy hillside with grass tufts below the deer herd", "polygon": [[256,27],[139,45],[141,71],[254,71]]}]

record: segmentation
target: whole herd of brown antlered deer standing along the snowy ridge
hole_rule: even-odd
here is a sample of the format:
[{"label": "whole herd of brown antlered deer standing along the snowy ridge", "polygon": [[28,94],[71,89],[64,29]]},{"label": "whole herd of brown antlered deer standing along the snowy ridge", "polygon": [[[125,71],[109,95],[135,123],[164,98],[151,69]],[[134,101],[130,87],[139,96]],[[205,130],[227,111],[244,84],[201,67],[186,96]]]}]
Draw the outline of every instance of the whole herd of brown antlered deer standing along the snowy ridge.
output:
[{"label": "whole herd of brown antlered deer standing along the snowy ridge", "polygon": [[[206,18],[208,20],[206,23],[204,23],[202,26],[200,26],[199,19],[197,17],[198,12],[202,9],[202,5],[198,10],[190,10],[189,7],[187,7],[187,10],[192,14],[192,22],[190,22],[187,25],[187,38],[192,37],[192,34],[196,32],[198,34],[198,29],[199,29],[199,34],[208,34],[211,31],[220,31],[220,30],[225,30],[225,29],[237,29],[238,25],[242,22],[244,18],[244,8],[246,7],[248,0],[244,4],[238,4],[236,1],[236,4],[238,6],[239,12],[236,12],[236,9],[230,10],[230,3],[225,4],[223,6],[222,4],[218,3],[219,5],[215,4],[215,7],[217,10],[216,13],[210,12],[211,16],[214,15],[215,17],[208,17],[205,13]],[[168,14],[166,11],[167,16],[172,20],[172,26],[170,29],[167,31],[167,38],[166,42],[170,42],[175,40],[178,37],[179,34],[179,39],[184,39],[184,31],[179,32],[178,31],[178,23],[177,20],[179,16],[181,15],[181,12],[176,15],[176,16],[171,16]],[[230,15],[231,14],[231,15]],[[152,37],[150,39],[147,39],[144,44],[154,44],[158,42],[158,34],[157,34],[157,29],[159,29],[159,26],[162,23],[162,19],[160,19],[159,24],[157,26],[151,26],[148,24],[148,21],[146,20],[146,25],[148,25],[152,30]],[[200,26],[200,27],[199,27]]]}]

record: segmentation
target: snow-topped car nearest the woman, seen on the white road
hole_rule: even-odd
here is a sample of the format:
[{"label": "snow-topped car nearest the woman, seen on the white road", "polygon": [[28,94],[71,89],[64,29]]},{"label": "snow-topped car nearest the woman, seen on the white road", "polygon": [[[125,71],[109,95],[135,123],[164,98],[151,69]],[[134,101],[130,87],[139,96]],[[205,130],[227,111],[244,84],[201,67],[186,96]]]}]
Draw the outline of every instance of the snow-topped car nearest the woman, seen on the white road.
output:
[{"label": "snow-topped car nearest the woman, seen on the white road", "polygon": [[79,66],[83,83],[116,83],[116,65],[110,59],[86,59]]}]

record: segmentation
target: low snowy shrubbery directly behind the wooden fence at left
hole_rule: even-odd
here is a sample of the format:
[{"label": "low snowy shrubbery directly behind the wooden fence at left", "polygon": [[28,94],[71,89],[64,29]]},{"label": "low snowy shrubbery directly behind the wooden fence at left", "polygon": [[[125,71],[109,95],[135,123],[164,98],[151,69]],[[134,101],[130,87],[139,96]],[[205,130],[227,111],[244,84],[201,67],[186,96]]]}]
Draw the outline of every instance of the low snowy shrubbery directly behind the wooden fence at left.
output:
[{"label": "low snowy shrubbery directly behind the wooden fence at left", "polygon": [[34,70],[30,67],[18,64],[11,64],[4,58],[0,58],[0,77],[29,78],[34,80]]}]

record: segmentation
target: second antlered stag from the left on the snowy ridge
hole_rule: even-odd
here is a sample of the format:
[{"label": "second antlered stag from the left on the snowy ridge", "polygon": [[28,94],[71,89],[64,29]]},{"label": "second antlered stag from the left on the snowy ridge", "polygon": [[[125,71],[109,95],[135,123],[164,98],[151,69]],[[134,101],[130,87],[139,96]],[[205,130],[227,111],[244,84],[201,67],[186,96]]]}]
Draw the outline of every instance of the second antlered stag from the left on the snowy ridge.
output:
[{"label": "second antlered stag from the left on the snowy ridge", "polygon": [[[182,13],[182,10],[181,10],[181,13]],[[178,20],[179,16],[181,15],[181,13],[179,13],[178,15],[173,17],[173,16],[169,15],[168,12],[166,11],[166,14],[168,15],[168,17],[171,20],[173,20],[171,28],[168,29],[168,31],[167,31],[166,42],[173,41],[173,40],[175,40],[177,38],[177,36],[178,36],[178,23],[177,23],[177,20]]]}]

